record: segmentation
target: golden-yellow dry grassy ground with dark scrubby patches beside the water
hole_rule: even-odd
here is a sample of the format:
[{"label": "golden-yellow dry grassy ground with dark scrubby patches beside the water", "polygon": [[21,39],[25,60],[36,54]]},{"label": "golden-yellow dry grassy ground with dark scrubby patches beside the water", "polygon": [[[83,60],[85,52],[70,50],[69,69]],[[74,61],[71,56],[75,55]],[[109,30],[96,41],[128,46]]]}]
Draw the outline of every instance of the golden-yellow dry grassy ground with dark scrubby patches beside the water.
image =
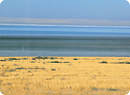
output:
[{"label": "golden-yellow dry grassy ground with dark scrubby patches beside the water", "polygon": [[130,57],[0,57],[4,95],[125,95]]}]

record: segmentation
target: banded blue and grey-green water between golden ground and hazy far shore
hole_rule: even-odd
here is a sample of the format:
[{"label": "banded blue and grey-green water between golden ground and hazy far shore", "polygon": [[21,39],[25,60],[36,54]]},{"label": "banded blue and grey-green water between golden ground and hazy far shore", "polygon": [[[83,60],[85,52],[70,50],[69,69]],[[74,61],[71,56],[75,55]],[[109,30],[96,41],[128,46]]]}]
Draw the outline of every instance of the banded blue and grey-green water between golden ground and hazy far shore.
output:
[{"label": "banded blue and grey-green water between golden ground and hazy far shore", "polygon": [[0,25],[0,56],[130,56],[130,27]]}]

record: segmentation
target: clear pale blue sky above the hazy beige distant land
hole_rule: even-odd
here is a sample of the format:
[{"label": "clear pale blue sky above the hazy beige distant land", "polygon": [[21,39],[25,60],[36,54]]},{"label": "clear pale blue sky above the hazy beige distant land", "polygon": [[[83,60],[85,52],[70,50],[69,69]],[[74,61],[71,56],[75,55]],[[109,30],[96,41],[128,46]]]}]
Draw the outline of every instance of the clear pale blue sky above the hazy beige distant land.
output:
[{"label": "clear pale blue sky above the hazy beige distant land", "polygon": [[0,18],[130,21],[126,0],[4,0]]}]

